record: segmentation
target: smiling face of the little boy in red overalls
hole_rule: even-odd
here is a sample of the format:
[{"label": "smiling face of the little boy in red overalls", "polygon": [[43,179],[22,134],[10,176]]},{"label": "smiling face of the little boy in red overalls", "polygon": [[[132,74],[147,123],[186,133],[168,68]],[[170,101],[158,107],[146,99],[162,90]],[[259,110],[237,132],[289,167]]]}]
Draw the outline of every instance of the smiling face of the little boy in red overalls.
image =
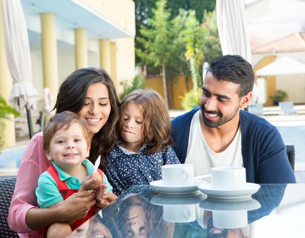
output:
[{"label": "smiling face of the little boy in red overalls", "polygon": [[69,129],[56,131],[50,142],[49,161],[60,168],[80,165],[89,156],[89,148],[83,136],[83,130],[78,123],[73,123]]}]

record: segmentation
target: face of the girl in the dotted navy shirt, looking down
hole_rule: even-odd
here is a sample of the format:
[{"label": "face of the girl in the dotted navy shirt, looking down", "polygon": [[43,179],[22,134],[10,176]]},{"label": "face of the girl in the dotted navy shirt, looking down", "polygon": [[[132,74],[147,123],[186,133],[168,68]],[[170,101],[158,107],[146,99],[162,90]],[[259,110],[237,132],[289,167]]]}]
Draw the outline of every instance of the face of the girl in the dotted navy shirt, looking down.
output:
[{"label": "face of the girl in the dotted navy shirt, looking down", "polygon": [[136,147],[142,144],[143,139],[143,114],[135,103],[129,103],[123,113],[124,124],[121,137],[126,145]]}]

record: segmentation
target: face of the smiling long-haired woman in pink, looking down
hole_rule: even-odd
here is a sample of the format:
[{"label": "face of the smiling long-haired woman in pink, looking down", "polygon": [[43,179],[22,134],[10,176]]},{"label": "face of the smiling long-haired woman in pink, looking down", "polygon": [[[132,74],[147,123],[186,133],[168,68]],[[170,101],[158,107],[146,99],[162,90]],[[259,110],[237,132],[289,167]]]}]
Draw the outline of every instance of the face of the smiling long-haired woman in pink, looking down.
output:
[{"label": "face of the smiling long-haired woman in pink, looking down", "polygon": [[103,83],[89,86],[86,101],[78,112],[80,118],[87,123],[90,139],[106,124],[111,110],[109,92]]}]

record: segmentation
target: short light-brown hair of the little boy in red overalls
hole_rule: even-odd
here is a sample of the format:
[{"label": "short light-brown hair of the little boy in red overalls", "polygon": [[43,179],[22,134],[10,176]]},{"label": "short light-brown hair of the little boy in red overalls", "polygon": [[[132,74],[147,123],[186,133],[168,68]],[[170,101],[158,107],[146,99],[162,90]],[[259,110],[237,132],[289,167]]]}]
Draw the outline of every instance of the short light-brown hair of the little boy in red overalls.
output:
[{"label": "short light-brown hair of the little boy in red overalls", "polygon": [[80,119],[79,115],[71,111],[63,111],[53,115],[43,129],[43,150],[50,154],[50,142],[54,134],[61,129],[68,130],[73,123],[78,123],[82,128],[83,136],[90,147],[89,130],[87,125]]}]

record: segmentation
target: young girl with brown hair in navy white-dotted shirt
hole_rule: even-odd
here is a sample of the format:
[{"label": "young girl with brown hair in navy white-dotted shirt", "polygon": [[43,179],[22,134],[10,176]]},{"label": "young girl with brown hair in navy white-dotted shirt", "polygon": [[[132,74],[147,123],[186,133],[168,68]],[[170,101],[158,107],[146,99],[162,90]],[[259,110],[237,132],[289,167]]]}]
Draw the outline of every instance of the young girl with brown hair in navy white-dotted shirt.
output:
[{"label": "young girl with brown hair in navy white-dotted shirt", "polygon": [[136,90],[119,105],[118,144],[106,154],[113,193],[161,180],[161,166],[179,164],[172,148],[168,108],[154,90]]}]

